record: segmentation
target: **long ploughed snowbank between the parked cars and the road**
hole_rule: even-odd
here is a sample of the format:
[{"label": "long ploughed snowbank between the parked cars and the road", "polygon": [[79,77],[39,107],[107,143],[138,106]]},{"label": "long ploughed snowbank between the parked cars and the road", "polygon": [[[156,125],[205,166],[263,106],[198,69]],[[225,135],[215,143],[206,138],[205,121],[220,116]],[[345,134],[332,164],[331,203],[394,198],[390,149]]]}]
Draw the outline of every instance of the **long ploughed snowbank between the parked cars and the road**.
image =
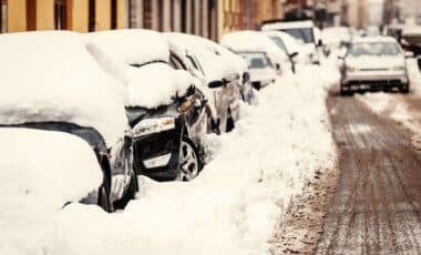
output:
[{"label": "long ploughed snowbank between the parked cars and the road", "polygon": [[319,79],[317,67],[298,72],[261,90],[258,105],[243,105],[232,133],[207,139],[213,160],[193,182],[141,177],[123,212],[72,204],[49,218],[42,242],[10,228],[16,242],[0,253],[267,254],[291,198],[336,159],[325,105],[326,81],[336,76]]}]

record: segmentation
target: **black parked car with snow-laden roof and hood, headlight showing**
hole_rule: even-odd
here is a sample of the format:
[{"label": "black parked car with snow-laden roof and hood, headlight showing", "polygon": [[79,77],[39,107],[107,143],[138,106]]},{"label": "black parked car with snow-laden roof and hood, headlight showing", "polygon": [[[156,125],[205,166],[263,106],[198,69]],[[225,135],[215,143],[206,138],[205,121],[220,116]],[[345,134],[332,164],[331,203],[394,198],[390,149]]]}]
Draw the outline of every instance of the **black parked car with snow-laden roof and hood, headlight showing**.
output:
[{"label": "black parked car with snow-laden roof and hood, headlight showing", "polygon": [[197,79],[170,65],[170,48],[158,32],[117,30],[86,40],[113,63],[103,63],[126,85],[126,114],[134,134],[134,169],[160,181],[191,181],[203,167],[207,100]]}]

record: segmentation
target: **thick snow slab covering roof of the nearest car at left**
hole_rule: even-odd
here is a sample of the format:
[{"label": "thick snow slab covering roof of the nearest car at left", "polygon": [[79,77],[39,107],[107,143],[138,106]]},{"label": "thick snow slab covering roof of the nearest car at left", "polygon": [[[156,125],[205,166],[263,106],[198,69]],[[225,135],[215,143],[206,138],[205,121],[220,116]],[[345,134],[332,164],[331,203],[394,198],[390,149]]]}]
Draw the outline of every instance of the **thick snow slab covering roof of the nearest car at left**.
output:
[{"label": "thick snow slab covering roof of the nearest car at left", "polygon": [[0,123],[71,122],[113,144],[127,125],[124,90],[103,72],[79,33],[0,35]]}]

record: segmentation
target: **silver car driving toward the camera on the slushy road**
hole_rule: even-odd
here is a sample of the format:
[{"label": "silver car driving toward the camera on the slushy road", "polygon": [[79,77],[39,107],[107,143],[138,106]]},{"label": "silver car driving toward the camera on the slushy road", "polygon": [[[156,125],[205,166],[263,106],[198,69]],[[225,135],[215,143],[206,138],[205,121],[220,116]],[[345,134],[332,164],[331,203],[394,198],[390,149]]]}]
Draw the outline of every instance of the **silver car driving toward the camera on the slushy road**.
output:
[{"label": "silver car driving toward the camera on the slushy road", "polygon": [[399,88],[409,92],[405,55],[396,39],[367,37],[355,39],[343,58],[340,92],[353,89]]}]

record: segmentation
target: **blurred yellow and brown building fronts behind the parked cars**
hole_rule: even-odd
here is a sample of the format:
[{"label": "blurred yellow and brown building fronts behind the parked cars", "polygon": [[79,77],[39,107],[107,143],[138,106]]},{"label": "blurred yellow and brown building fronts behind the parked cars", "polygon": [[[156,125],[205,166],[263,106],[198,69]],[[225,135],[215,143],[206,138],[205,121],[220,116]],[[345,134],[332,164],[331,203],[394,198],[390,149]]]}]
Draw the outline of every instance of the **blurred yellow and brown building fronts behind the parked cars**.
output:
[{"label": "blurred yellow and brown building fronts behind the parked cars", "polygon": [[285,0],[0,0],[1,32],[142,28],[217,40],[283,18]]}]

